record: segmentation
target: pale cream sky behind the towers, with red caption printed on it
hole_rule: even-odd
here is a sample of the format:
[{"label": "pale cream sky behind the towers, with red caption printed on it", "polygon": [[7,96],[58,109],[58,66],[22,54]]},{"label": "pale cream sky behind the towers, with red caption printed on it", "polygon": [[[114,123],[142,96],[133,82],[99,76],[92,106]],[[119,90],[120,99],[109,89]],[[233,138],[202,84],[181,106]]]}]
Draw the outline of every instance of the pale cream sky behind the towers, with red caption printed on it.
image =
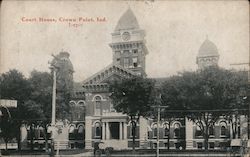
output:
[{"label": "pale cream sky behind the towers, with red caption printed on it", "polygon": [[[0,73],[49,71],[51,55],[63,50],[70,53],[74,80],[83,81],[112,63],[111,33],[128,7],[146,32],[148,77],[196,70],[206,36],[218,48],[219,66],[247,67],[230,64],[249,62],[248,1],[12,0],[1,4]],[[78,25],[73,27],[62,21],[79,18],[94,22],[70,22]]]}]

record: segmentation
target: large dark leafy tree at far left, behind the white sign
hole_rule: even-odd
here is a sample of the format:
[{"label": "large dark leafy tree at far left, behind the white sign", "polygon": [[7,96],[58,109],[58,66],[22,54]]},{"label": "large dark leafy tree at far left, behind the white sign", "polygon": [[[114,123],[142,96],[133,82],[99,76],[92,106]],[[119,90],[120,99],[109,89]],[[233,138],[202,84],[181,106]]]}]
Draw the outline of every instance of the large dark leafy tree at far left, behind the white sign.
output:
[{"label": "large dark leafy tree at far left, behind the white sign", "polygon": [[[33,76],[33,74],[32,74]],[[40,80],[46,80],[46,77],[41,77]],[[6,134],[2,134],[3,138],[6,140],[11,140],[10,137],[15,135],[18,148],[21,149],[20,146],[20,127],[24,122],[27,123],[35,123],[36,121],[45,120],[44,113],[42,110],[46,109],[44,104],[51,103],[47,102],[49,97],[42,96],[40,91],[44,91],[43,94],[47,94],[47,90],[42,88],[43,84],[37,82],[39,85],[38,88],[34,88],[34,77],[31,78],[33,81],[27,80],[22,73],[17,70],[10,70],[1,75],[1,83],[0,83],[0,96],[2,99],[14,99],[17,100],[17,108],[10,108],[11,119],[10,120],[2,120],[1,129]],[[33,82],[33,83],[31,83]],[[41,88],[40,88],[41,87]],[[50,99],[51,100],[51,99]],[[44,102],[46,101],[46,102]],[[46,104],[48,106],[48,104]],[[11,127],[10,127],[11,126]],[[10,131],[11,128],[11,131]],[[10,135],[8,135],[8,133]],[[6,137],[5,137],[6,136]],[[8,142],[8,141],[6,141]]]}]

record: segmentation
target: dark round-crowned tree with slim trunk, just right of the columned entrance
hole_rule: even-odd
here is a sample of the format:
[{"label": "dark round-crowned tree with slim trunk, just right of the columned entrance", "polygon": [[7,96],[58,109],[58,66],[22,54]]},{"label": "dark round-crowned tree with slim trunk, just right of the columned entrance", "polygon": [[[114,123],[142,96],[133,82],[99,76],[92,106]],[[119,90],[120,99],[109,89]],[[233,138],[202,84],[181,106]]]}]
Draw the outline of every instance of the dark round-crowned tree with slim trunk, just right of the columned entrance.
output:
[{"label": "dark round-crowned tree with slim trunk, just right of the columned entrance", "polygon": [[136,124],[140,116],[149,115],[154,104],[154,81],[141,77],[114,81],[110,84],[110,92],[114,108],[130,117],[135,151]]}]

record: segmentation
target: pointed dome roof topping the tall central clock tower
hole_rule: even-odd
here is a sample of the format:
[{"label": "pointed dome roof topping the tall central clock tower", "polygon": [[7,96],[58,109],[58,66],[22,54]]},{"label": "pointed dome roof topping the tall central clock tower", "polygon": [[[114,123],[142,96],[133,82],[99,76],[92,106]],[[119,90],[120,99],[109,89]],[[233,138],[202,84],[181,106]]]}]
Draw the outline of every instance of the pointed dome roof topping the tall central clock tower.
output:
[{"label": "pointed dome roof topping the tall central clock tower", "polygon": [[126,29],[139,29],[137,19],[130,8],[122,15],[115,27],[115,31]]}]

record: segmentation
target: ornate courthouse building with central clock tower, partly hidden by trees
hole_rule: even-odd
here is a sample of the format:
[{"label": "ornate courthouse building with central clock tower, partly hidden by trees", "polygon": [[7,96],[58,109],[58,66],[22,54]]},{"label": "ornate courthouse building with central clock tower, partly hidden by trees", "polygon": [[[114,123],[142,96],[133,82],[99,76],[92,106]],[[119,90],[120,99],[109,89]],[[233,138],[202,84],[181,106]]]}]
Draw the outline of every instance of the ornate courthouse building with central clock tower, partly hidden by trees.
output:
[{"label": "ornate courthouse building with central clock tower, partly hidden by trees", "polygon": [[[132,10],[127,9],[111,33],[112,63],[74,86],[70,123],[64,126],[63,136],[60,136],[63,140],[56,139],[64,144],[62,148],[93,149],[95,142],[104,142],[114,149],[132,148],[131,123],[127,115],[113,108],[108,85],[117,79],[147,77],[145,62],[150,52],[145,35]],[[197,53],[198,69],[218,64],[218,49],[209,39],[205,39]],[[160,85],[164,78],[155,80]],[[216,122],[209,133],[209,149],[224,149],[230,145],[232,131],[227,120]],[[185,117],[161,121],[159,138],[161,149],[204,148],[200,128]],[[141,117],[136,128],[136,148],[156,148],[156,139],[156,120]]]}]

